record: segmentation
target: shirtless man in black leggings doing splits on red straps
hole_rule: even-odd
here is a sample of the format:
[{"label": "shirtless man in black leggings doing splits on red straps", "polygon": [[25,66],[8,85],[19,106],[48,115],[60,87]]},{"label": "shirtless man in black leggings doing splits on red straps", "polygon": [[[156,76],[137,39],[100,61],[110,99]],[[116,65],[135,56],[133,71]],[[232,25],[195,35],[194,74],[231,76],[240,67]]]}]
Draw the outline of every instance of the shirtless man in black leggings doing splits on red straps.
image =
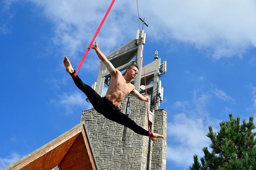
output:
[{"label": "shirtless man in black leggings doing splits on red straps", "polygon": [[145,130],[144,128],[140,127],[127,115],[122,113],[121,109],[119,108],[122,101],[129,93],[141,101],[148,101],[148,97],[140,94],[137,90],[135,90],[134,85],[130,83],[130,81],[137,76],[139,67],[137,65],[129,66],[126,69],[126,74],[123,76],[122,73],[115,69],[112,63],[108,61],[106,56],[100,51],[97,42],[92,44],[90,48],[95,50],[97,56],[103,62],[112,76],[110,79],[109,88],[104,97],[101,97],[90,86],[82,82],[67,57],[64,58],[63,62],[66,67],[66,71],[71,75],[75,85],[88,97],[94,109],[98,113],[101,113],[105,118],[124,125],[139,135],[148,136],[152,141],[156,140],[156,138],[164,138],[162,135],[152,133],[149,130]]}]

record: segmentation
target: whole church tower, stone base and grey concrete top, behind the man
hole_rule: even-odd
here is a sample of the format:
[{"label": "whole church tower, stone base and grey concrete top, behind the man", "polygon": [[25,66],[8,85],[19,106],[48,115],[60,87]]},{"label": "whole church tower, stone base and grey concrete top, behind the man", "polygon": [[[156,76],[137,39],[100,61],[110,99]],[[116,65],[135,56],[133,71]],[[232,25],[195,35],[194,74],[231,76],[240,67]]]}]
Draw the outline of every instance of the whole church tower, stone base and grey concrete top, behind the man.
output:
[{"label": "whole church tower, stone base and grey concrete top, behind the man", "polygon": [[[166,62],[160,63],[160,58],[155,56],[155,61],[145,65],[145,78],[142,68],[142,51],[146,34],[142,30],[136,32],[136,38],[122,47],[112,51],[106,57],[119,71],[124,71],[127,66],[137,64],[139,73],[132,82],[137,91],[150,94],[151,102],[148,105],[133,96],[127,96],[121,104],[124,114],[134,120],[139,126],[148,129],[149,112],[150,129],[154,133],[162,134],[165,139],[154,142],[149,137],[134,133],[129,128],[112,122],[97,113],[94,108],[82,112],[81,122],[85,121],[91,145],[97,164],[102,170],[165,170],[166,169],[166,134],[167,111],[158,109],[162,101],[163,88],[159,77],[166,73]],[[100,62],[97,82],[94,83],[95,91],[102,95],[104,84],[109,85],[111,75]],[[144,94],[145,95],[145,94]]]}]

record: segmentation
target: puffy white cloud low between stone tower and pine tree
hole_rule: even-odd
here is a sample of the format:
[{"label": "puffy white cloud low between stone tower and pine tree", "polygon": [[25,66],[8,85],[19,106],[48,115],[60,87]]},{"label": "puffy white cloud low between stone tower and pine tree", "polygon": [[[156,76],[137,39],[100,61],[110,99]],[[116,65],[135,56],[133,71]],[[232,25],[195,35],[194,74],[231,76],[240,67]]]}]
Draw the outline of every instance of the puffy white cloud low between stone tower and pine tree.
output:
[{"label": "puffy white cloud low between stone tower and pine tree", "polygon": [[208,126],[203,119],[187,116],[185,113],[174,115],[168,123],[168,135],[172,144],[167,146],[167,159],[179,166],[188,167],[193,163],[193,155],[202,156],[202,148],[210,144],[207,134]]}]

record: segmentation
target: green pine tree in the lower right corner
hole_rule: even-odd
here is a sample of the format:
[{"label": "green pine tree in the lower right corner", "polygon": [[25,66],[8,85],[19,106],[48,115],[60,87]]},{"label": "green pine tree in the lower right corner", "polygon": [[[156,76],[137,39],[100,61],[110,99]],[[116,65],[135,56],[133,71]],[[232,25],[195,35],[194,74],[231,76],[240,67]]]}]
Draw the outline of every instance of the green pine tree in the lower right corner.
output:
[{"label": "green pine tree in the lower right corner", "polygon": [[253,117],[249,122],[243,120],[240,124],[240,117],[233,118],[229,114],[229,121],[219,123],[221,129],[213,132],[209,126],[209,133],[206,135],[211,139],[210,150],[207,147],[202,149],[204,156],[198,160],[195,154],[194,163],[189,166],[190,170],[256,170],[256,133]]}]

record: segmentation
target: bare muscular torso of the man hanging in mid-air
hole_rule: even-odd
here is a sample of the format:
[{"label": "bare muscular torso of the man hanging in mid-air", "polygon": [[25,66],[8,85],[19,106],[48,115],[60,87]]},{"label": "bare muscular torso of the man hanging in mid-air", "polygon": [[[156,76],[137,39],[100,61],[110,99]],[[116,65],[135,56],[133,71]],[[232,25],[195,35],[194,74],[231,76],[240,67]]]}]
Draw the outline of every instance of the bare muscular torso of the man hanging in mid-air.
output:
[{"label": "bare muscular torso of the man hanging in mid-air", "polygon": [[108,98],[115,106],[120,107],[125,96],[134,90],[131,83],[126,83],[120,71],[116,70],[116,74],[111,77],[109,88],[105,97]]}]

